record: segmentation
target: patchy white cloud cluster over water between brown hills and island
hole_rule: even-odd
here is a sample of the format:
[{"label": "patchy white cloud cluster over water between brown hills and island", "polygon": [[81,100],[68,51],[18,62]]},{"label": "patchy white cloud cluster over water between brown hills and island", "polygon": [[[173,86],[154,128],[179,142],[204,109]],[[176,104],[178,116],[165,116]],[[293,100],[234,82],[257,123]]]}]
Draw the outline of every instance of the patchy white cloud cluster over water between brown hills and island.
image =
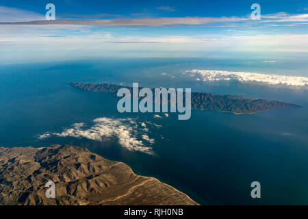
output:
[{"label": "patchy white cloud cluster over water between brown hills and island", "polygon": [[[149,129],[146,123],[138,123],[132,118],[96,118],[94,125],[86,128],[84,123],[75,123],[73,127],[64,129],[57,133],[43,133],[38,136],[39,139],[49,138],[51,136],[88,138],[103,142],[104,140],[117,139],[118,143],[129,151],[140,151],[153,155],[151,144],[155,140],[148,136]],[[151,124],[151,123],[148,123]]]}]

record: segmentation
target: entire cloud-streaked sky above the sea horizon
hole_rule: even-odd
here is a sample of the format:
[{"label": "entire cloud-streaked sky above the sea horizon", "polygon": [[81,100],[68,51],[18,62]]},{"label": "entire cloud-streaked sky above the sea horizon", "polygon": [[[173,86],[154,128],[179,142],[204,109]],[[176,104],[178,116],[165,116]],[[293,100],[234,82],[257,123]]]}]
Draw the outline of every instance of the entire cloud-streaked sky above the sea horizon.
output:
[{"label": "entire cloud-streaked sky above the sea horizon", "polygon": [[[55,21],[46,21],[47,3]],[[251,5],[261,20],[251,20]],[[91,57],[308,53],[308,2],[3,1],[0,63]]]}]

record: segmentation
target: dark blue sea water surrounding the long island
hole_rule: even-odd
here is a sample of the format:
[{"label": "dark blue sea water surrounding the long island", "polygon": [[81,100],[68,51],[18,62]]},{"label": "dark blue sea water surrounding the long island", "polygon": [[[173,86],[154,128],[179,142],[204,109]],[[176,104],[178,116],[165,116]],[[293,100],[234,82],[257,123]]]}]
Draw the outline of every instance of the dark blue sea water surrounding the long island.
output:
[{"label": "dark blue sea water surrounding the long island", "polygon": [[[201,204],[308,204],[308,93],[239,82],[205,83],[186,70],[217,69],[306,76],[303,63],[266,65],[243,60],[104,59],[0,66],[0,146],[74,144],[107,159],[125,162],[140,175],[157,177]],[[287,67],[289,66],[289,67]],[[291,66],[291,67],[290,67]],[[297,67],[296,67],[297,66]],[[304,68],[307,69],[307,68]],[[235,115],[193,110],[177,114],[120,114],[110,94],[76,90],[69,82],[139,82],[143,87],[192,88],[296,103],[303,107]],[[134,118],[155,139],[148,155],[128,151],[117,141],[56,137],[74,123],[95,118]],[[261,183],[261,198],[251,198],[251,182]]]}]

